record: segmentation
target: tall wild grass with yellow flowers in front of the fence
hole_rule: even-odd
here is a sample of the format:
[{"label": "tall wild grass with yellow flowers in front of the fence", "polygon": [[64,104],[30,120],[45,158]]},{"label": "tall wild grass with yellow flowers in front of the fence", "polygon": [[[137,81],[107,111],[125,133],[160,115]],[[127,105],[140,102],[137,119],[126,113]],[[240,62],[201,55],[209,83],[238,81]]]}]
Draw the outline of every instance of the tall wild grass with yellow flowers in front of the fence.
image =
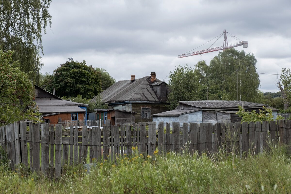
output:
[{"label": "tall wild grass with yellow flowers in front of the fence", "polygon": [[134,154],[63,169],[58,181],[0,167],[2,193],[290,193],[290,157],[284,147],[240,158],[218,152],[146,157]]}]

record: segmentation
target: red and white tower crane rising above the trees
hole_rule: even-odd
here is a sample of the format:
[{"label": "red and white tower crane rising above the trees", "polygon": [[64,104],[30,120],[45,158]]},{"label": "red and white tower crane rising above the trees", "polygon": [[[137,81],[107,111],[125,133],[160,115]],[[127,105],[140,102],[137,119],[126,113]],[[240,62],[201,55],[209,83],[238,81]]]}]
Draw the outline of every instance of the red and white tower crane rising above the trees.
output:
[{"label": "red and white tower crane rising above the trees", "polygon": [[235,44],[228,45],[226,33],[227,33],[226,30],[223,30],[223,33],[222,33],[222,34],[224,34],[223,46],[219,46],[219,47],[215,47],[215,48],[208,48],[208,49],[205,49],[205,50],[202,50],[202,51],[195,51],[195,52],[192,52],[192,53],[184,53],[182,55],[178,55],[177,58],[189,57],[189,56],[193,56],[193,55],[201,55],[201,54],[210,53],[210,52],[213,52],[213,51],[220,51],[220,50],[224,51],[227,48],[234,48],[234,47],[237,47],[237,46],[243,46],[243,48],[248,48],[248,41],[239,41],[239,42],[237,42]]}]

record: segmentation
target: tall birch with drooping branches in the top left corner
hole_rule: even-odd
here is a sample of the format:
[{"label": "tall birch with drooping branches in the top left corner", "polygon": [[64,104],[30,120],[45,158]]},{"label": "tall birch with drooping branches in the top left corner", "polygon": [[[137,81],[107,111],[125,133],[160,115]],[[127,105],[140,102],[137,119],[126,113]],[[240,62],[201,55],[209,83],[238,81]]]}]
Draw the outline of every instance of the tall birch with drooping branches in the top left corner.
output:
[{"label": "tall birch with drooping branches in the top left corner", "polygon": [[20,69],[36,84],[43,65],[39,55],[41,33],[51,25],[50,3],[51,0],[0,0],[0,49],[14,50],[12,59],[20,62]]}]

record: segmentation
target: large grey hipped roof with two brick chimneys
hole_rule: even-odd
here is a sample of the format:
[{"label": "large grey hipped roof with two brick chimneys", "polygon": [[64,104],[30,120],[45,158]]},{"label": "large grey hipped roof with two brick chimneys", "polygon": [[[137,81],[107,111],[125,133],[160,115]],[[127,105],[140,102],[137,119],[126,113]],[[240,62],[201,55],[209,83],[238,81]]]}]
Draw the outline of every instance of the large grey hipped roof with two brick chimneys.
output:
[{"label": "large grey hipped roof with two brick chimneys", "polygon": [[[157,82],[162,82],[157,79]],[[160,83],[159,83],[160,84]],[[159,96],[153,91],[150,76],[139,78],[130,82],[130,80],[118,81],[99,95],[102,96],[104,103],[113,102],[163,102]],[[91,99],[96,102],[97,96]]]}]

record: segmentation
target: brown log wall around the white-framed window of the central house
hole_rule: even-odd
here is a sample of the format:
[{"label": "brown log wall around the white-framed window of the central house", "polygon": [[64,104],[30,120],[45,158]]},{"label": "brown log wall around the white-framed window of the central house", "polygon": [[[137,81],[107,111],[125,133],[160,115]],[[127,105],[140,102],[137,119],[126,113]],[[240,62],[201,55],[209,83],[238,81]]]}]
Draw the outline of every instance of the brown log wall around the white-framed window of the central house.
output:
[{"label": "brown log wall around the white-framed window of the central house", "polygon": [[136,112],[135,114],[135,122],[149,122],[152,121],[152,117],[150,118],[141,118],[141,107],[150,107],[150,114],[157,114],[161,112],[166,112],[168,109],[165,107],[166,104],[140,104],[140,103],[132,103],[132,111]]}]

